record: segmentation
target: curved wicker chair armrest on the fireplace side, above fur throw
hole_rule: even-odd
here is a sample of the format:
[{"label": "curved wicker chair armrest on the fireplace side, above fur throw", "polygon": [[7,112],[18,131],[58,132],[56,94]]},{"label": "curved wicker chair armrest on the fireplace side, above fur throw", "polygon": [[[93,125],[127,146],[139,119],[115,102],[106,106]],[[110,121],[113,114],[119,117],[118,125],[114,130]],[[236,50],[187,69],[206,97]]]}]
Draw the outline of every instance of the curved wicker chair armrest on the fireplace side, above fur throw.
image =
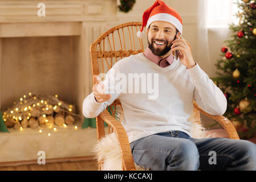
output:
[{"label": "curved wicker chair armrest on the fireplace side, above fur throw", "polygon": [[135,164],[132,158],[130,143],[123,125],[121,125],[121,123],[119,123],[114,117],[112,117],[107,110],[104,110],[102,113],[100,113],[99,116],[115,131],[120,146],[124,170],[136,171]]}]

